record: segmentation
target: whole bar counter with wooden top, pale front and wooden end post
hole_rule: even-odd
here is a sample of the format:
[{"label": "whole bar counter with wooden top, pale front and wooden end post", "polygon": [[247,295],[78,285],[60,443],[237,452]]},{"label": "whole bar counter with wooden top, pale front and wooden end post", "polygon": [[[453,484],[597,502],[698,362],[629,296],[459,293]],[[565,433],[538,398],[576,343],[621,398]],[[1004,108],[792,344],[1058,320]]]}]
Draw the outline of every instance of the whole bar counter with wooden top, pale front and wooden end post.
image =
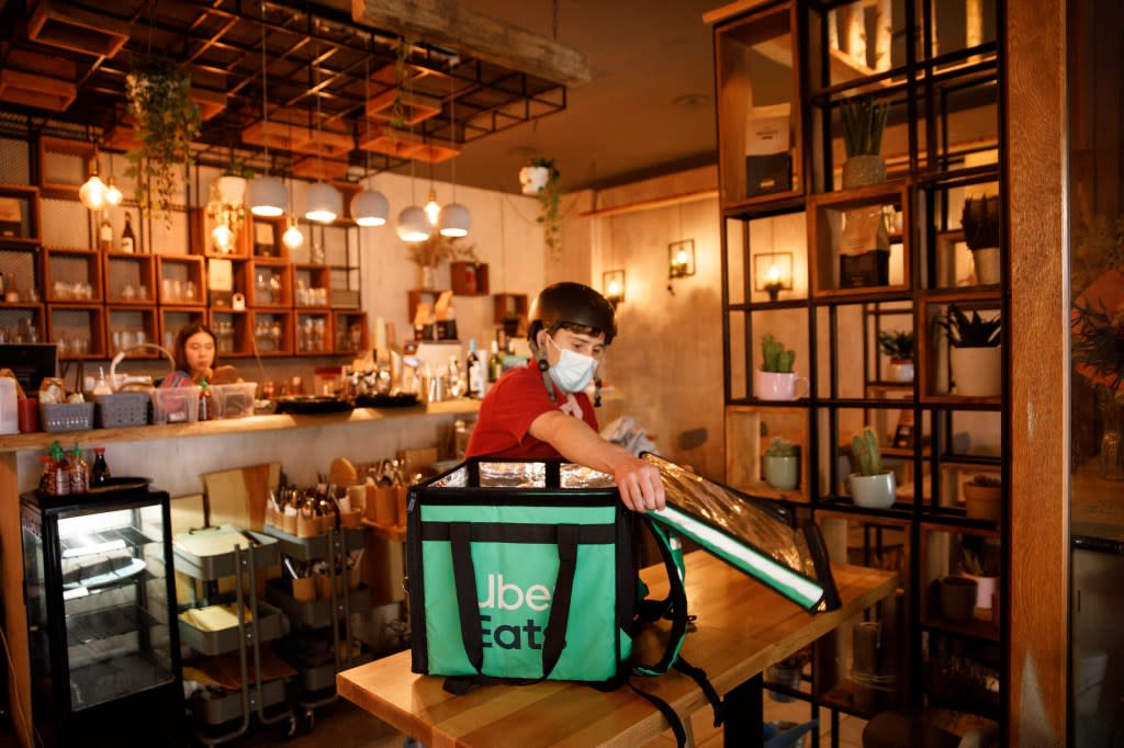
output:
[{"label": "whole bar counter with wooden top, pale front and wooden end post", "polygon": [[0,437],[3,626],[11,651],[11,717],[20,745],[31,745],[27,720],[31,704],[18,496],[38,484],[39,457],[52,441],[64,447],[78,443],[83,450],[103,446],[115,476],[152,478],[153,487],[175,498],[200,493],[199,476],[214,471],[277,462],[290,481],[309,485],[318,473],[328,472],[336,457],[357,464],[393,457],[408,447],[441,447],[454,421],[474,416],[479,408],[479,401],[451,400],[409,408],[356,408],[338,413],[250,416]]}]

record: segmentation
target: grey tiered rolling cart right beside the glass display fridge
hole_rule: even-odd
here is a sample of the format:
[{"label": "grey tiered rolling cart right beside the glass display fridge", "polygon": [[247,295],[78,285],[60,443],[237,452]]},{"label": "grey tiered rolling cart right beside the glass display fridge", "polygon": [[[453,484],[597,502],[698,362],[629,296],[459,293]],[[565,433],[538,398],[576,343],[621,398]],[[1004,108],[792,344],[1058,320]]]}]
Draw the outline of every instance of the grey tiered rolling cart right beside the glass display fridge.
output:
[{"label": "grey tiered rolling cart right beside the glass display fridge", "polygon": [[[262,724],[288,721],[287,735],[294,735],[297,720],[287,693],[293,672],[262,647],[282,636],[283,617],[259,600],[256,589],[257,571],[279,563],[277,541],[223,526],[175,536],[173,551],[175,569],[192,580],[193,599],[180,605],[180,635],[203,656],[200,669],[226,682],[217,690],[197,690],[188,699],[188,709],[200,723],[197,738],[205,745],[233,740],[246,732],[254,714]],[[221,580],[233,580],[233,591],[219,592]],[[205,585],[202,596],[197,581]]]}]

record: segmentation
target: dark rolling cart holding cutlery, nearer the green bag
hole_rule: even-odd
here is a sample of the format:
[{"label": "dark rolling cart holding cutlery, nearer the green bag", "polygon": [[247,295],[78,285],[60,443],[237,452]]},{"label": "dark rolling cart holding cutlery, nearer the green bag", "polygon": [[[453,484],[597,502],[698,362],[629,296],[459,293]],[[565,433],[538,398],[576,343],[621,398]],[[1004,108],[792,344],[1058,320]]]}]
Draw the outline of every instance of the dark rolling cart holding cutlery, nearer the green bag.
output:
[{"label": "dark rolling cart holding cutlery, nearer the green bag", "polygon": [[[336,673],[371,659],[371,651],[352,636],[351,614],[371,608],[370,590],[359,583],[359,566],[353,556],[365,547],[363,527],[336,527],[311,537],[297,537],[266,524],[265,532],[284,557],[288,574],[266,583],[266,599],[283,610],[291,633],[274,642],[274,648],[297,668],[297,704],[311,730],[314,710],[336,700]],[[323,563],[327,575],[298,576]],[[330,648],[330,653],[325,651]]]}]

